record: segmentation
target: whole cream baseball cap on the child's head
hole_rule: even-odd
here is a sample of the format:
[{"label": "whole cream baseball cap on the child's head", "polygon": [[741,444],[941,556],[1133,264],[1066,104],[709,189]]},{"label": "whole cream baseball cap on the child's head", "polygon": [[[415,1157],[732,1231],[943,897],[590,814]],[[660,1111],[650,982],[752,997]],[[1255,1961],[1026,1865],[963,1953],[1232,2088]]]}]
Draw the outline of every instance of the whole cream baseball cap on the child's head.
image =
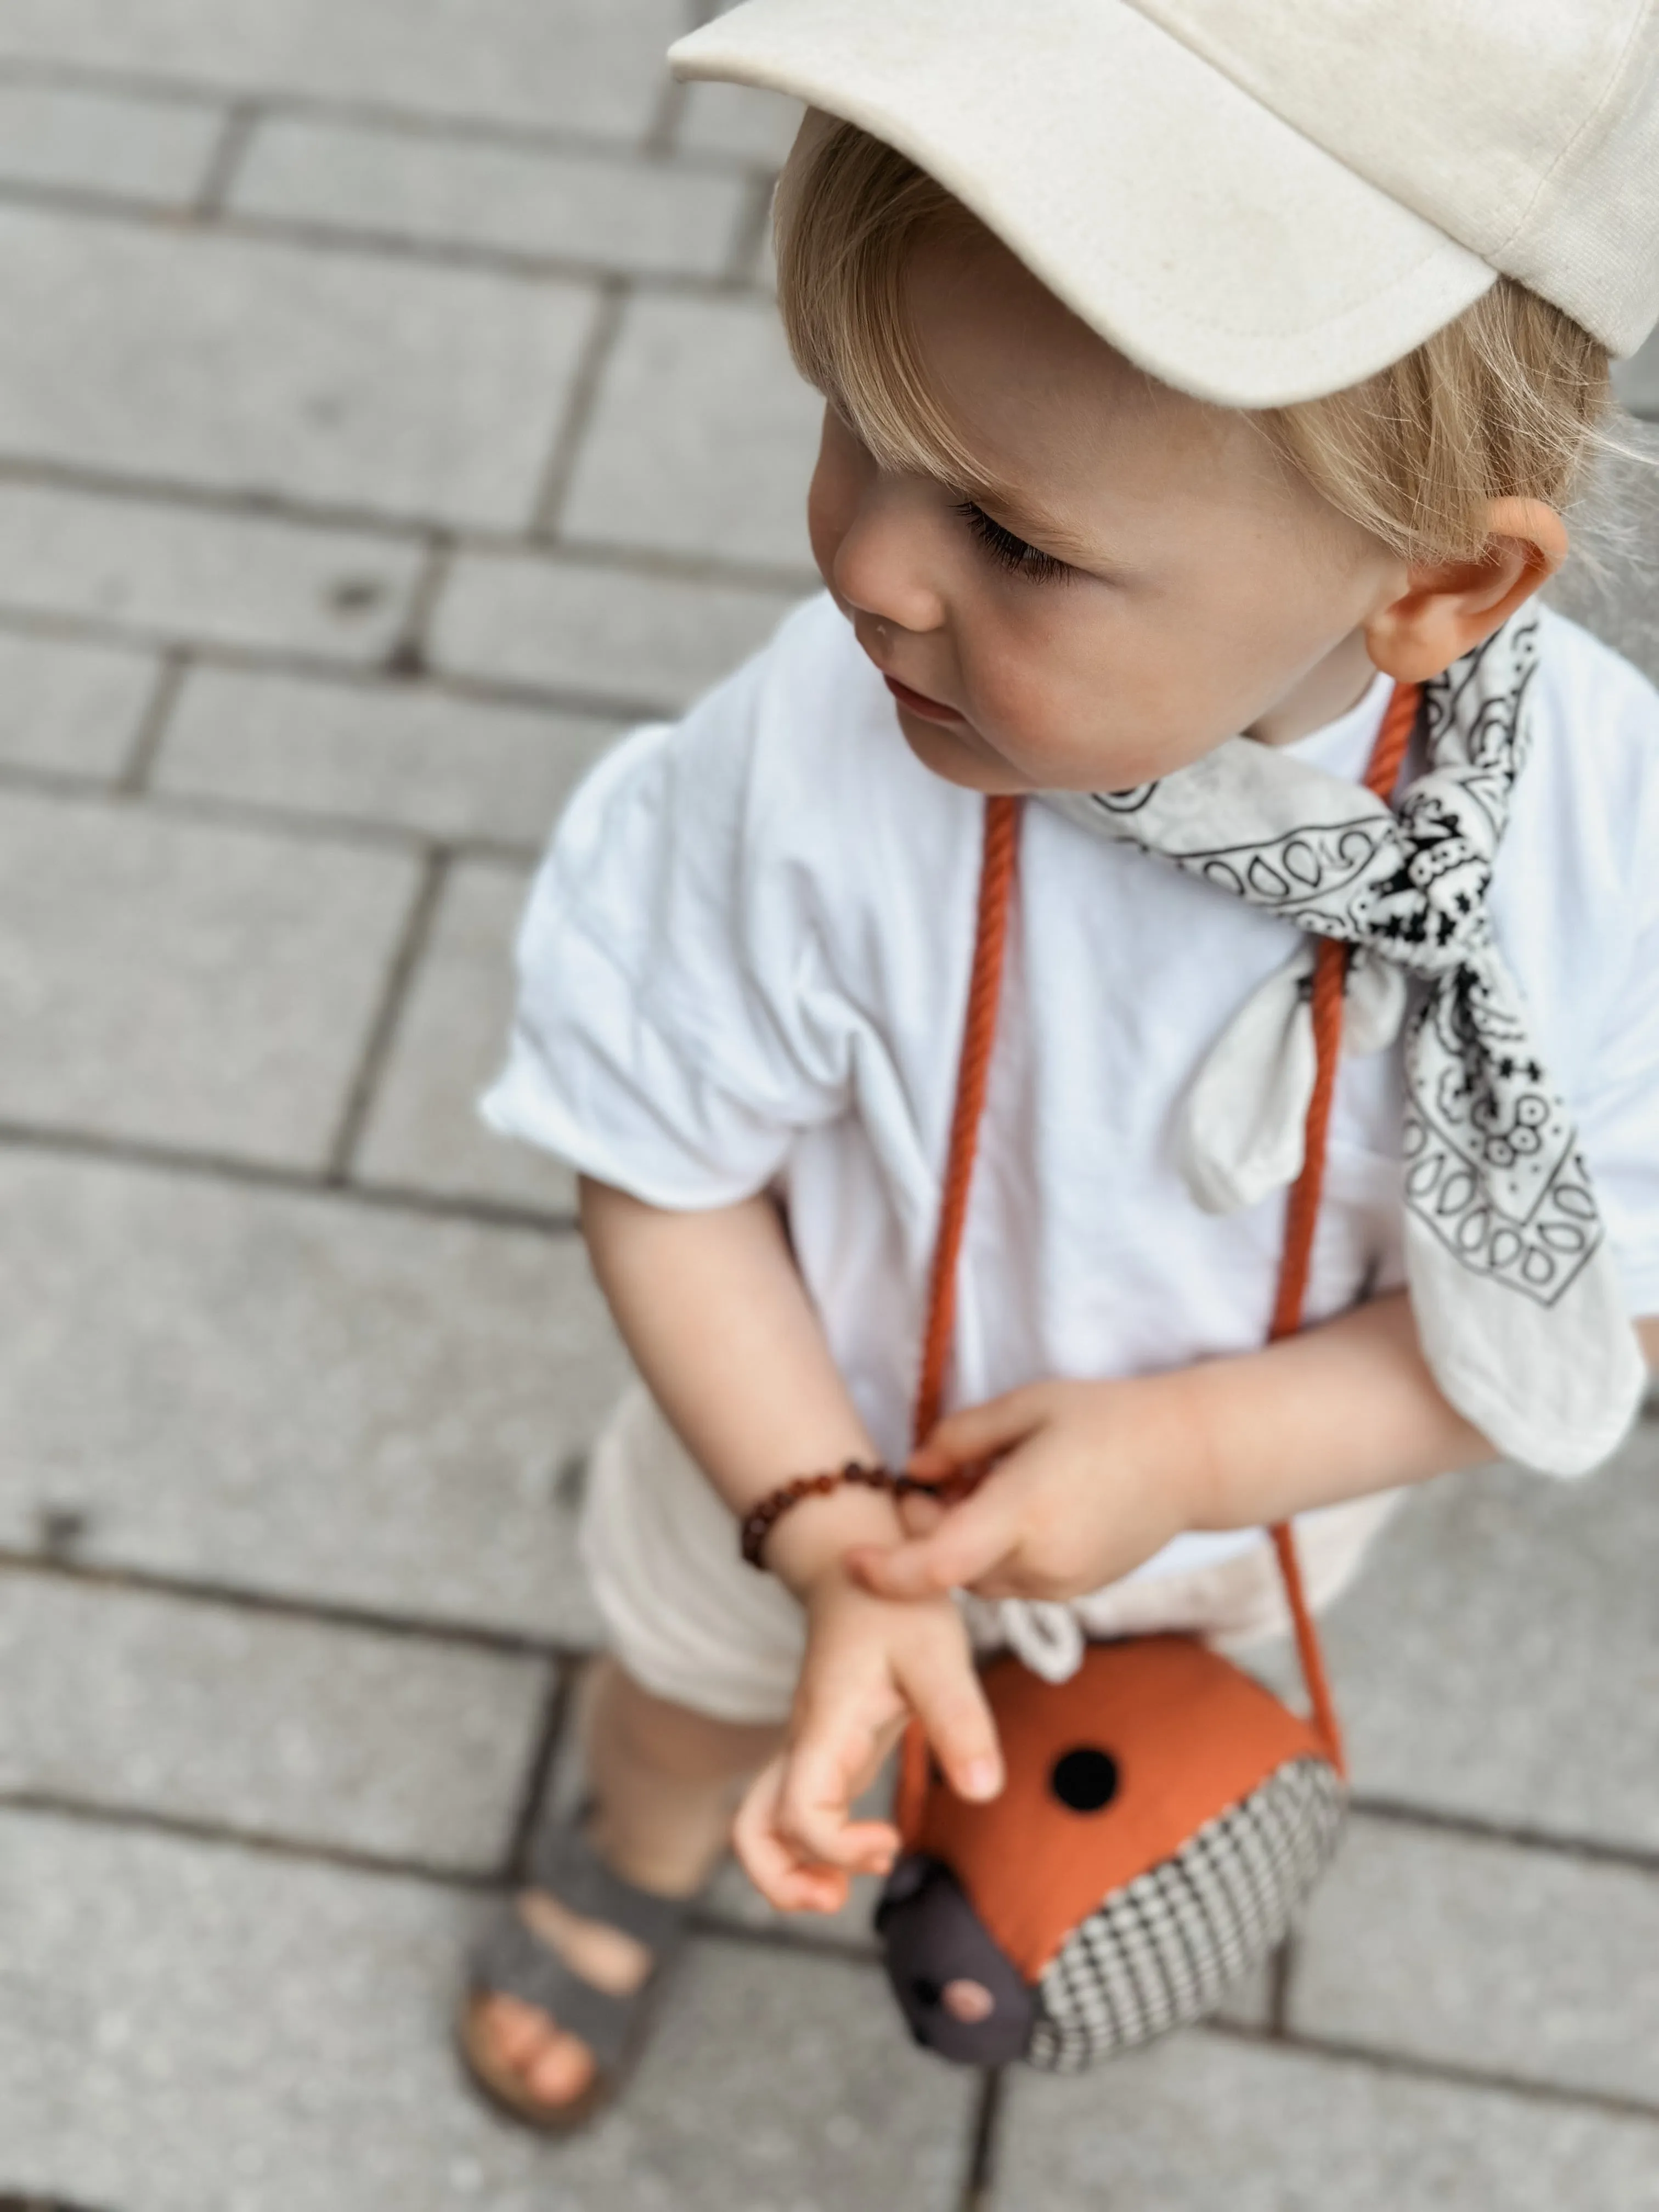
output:
[{"label": "whole cream baseball cap on the child's head", "polygon": [[1500,274],[1613,354],[1659,316],[1659,0],[745,0],[668,60],[860,124],[1225,407]]}]

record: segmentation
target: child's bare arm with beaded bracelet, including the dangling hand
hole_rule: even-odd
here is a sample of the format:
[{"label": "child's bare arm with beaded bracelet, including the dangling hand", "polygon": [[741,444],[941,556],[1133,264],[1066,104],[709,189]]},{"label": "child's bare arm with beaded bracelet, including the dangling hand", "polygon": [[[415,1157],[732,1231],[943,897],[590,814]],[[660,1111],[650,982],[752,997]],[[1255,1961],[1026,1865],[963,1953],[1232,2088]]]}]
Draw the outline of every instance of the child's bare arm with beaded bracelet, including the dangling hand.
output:
[{"label": "child's bare arm with beaded bracelet, including the dangling hand", "polygon": [[[664,1212],[584,1181],[582,1230],[641,1376],[734,1515],[790,1475],[874,1458],[770,1199]],[[887,1498],[847,1486],[768,1537],[768,1568],[805,1606],[807,1655],[785,1750],[750,1792],[739,1849],[787,1911],[834,1911],[845,1869],[891,1863],[894,1829],[852,1820],[849,1807],[911,1712],[962,1796],[1002,1785],[951,1599],[894,1604],[843,1571],[849,1546],[900,1533]]]}]

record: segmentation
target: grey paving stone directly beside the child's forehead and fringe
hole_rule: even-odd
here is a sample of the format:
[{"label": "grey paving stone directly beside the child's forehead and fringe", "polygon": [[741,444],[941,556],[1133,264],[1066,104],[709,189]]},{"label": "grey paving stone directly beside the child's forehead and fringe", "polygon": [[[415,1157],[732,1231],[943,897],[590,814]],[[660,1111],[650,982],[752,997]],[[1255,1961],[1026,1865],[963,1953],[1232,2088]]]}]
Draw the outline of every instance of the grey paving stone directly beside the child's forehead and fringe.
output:
[{"label": "grey paving stone directly beside the child's forehead and fringe", "polygon": [[810,573],[821,425],[768,301],[635,299],[560,524],[591,544]]}]

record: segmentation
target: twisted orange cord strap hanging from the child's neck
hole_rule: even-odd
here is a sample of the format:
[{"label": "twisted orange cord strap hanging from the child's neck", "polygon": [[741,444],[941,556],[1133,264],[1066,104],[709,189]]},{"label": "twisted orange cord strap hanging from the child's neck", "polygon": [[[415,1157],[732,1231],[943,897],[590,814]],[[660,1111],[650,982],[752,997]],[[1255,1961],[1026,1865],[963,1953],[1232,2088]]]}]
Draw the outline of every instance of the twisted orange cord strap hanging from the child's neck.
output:
[{"label": "twisted orange cord strap hanging from the child's neck", "polygon": [[[1385,805],[1400,781],[1400,768],[1418,726],[1420,688],[1396,684],[1371,763],[1365,772],[1365,787]],[[940,1234],[933,1254],[933,1279],[927,1305],[927,1336],[922,1340],[922,1374],[916,1391],[916,1442],[920,1444],[938,1422],[945,1396],[945,1367],[951,1352],[951,1329],[956,1323],[956,1270],[962,1254],[962,1225],[967,1221],[969,1183],[973,1181],[973,1155],[978,1148],[984,1093],[991,1071],[991,1046],[995,1042],[998,1000],[1002,993],[1002,953],[1009,933],[1009,902],[1013,894],[1015,852],[1020,841],[1020,801],[987,799],[984,803],[984,856],[980,865],[980,918],[973,945],[973,978],[969,984],[969,1009],[962,1029],[962,1062],[956,1079],[956,1113],[951,1115],[951,1150],[945,1170],[945,1194],[940,1201]],[[1325,1144],[1329,1135],[1332,1102],[1336,1097],[1336,1068],[1343,1055],[1343,991],[1347,982],[1349,947],[1325,938],[1314,960],[1312,1015],[1314,1015],[1314,1095],[1307,1102],[1307,1126],[1303,1144],[1303,1170],[1285,1206],[1285,1256],[1279,1270],[1279,1294],[1274,1298],[1270,1343],[1294,1336],[1303,1325],[1307,1298],[1307,1276],[1314,1256],[1314,1230],[1318,1225],[1318,1201],[1325,1188]],[[1336,1703],[1325,1672],[1325,1652],[1318,1628],[1307,1606],[1301,1562],[1296,1557],[1296,1535],[1290,1522],[1272,1531],[1274,1553],[1285,1582],[1285,1599],[1296,1628],[1296,1655],[1301,1659],[1307,1699],[1314,1712],[1314,1728],[1338,1774],[1345,1774],[1343,1732],[1336,1719]],[[920,1803],[927,1790],[927,1743],[920,1728],[905,1732],[905,1756],[898,1790],[898,1823],[902,1834],[914,1832]]]}]

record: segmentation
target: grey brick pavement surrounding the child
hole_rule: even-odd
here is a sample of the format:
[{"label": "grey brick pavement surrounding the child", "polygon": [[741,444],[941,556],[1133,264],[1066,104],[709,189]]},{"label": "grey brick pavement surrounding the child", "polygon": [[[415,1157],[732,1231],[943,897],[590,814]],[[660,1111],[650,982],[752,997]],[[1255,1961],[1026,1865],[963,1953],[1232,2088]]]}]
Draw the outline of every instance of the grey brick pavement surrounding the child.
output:
[{"label": "grey brick pavement surrounding the child", "polygon": [[[0,2205],[1659,2208],[1652,1425],[1389,1531],[1225,2024],[993,2097],[728,1876],[591,2139],[460,2086],[624,1371],[471,1099],[571,779],[810,584],[794,115],[670,91],[692,13],[0,4]],[[1659,672],[1613,473],[1559,597]]]}]

